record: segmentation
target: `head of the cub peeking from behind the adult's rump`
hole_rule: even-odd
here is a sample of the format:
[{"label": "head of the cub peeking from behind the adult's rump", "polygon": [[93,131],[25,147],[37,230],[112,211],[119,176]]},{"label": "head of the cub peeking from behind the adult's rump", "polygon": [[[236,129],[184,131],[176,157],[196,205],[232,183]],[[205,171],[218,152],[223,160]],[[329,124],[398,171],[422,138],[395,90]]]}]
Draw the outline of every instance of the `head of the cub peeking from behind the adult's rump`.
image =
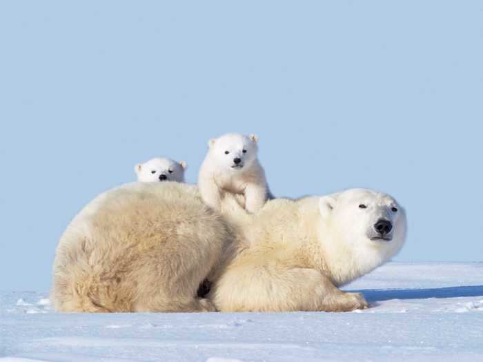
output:
[{"label": "head of the cub peeking from behind the adult's rump", "polygon": [[150,159],[145,163],[138,163],[134,168],[137,181],[159,182],[177,181],[184,182],[184,170],[186,162],[173,161],[172,159]]}]

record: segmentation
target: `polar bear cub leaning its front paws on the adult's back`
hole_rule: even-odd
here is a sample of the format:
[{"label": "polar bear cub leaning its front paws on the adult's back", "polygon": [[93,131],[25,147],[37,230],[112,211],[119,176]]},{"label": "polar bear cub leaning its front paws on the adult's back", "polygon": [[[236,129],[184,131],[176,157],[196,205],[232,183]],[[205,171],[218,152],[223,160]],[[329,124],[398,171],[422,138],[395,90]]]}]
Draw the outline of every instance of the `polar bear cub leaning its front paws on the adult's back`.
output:
[{"label": "polar bear cub leaning its front paws on the adult's back", "polygon": [[258,137],[228,133],[210,139],[208,154],[199,170],[198,187],[203,201],[219,210],[226,192],[244,196],[244,208],[255,213],[262,208],[270,192],[265,171],[260,165]]}]

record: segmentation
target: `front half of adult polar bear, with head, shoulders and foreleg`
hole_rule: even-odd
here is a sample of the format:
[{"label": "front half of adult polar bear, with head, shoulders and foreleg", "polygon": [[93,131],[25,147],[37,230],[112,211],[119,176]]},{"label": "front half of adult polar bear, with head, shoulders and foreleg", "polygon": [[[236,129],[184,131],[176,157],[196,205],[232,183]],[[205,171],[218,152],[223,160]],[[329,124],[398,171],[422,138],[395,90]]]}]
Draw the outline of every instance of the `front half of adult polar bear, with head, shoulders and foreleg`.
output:
[{"label": "front half of adult polar bear, with head, shoulders and foreleg", "polygon": [[403,208],[372,190],[276,199],[257,215],[223,208],[237,241],[208,294],[221,312],[367,308],[362,294],[337,287],[391,259],[406,239]]}]

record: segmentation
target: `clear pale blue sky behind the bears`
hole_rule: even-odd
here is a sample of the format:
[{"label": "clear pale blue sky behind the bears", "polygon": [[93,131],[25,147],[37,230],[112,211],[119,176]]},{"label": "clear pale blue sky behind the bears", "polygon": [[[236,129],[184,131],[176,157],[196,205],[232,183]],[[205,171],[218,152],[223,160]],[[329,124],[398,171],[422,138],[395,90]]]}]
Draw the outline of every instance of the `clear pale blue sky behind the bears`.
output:
[{"label": "clear pale blue sky behind the bears", "polygon": [[480,1],[2,1],[0,290],[135,163],[257,133],[276,195],[405,206],[400,261],[483,259]]}]

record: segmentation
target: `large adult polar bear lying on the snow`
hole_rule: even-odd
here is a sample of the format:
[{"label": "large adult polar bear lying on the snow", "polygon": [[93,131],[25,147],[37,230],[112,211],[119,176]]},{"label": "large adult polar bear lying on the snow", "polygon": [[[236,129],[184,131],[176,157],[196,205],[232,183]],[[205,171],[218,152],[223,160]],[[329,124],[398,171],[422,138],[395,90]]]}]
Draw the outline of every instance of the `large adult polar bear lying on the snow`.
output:
[{"label": "large adult polar bear lying on the snow", "polygon": [[[275,199],[256,215],[227,199],[223,210],[216,214],[196,188],[180,183],[134,183],[102,194],[81,210],[59,241],[55,308],[365,308],[360,294],[342,292],[337,285],[387,261],[405,239],[400,206],[369,190]],[[207,277],[213,281],[209,299],[197,298],[198,285]]]}]

